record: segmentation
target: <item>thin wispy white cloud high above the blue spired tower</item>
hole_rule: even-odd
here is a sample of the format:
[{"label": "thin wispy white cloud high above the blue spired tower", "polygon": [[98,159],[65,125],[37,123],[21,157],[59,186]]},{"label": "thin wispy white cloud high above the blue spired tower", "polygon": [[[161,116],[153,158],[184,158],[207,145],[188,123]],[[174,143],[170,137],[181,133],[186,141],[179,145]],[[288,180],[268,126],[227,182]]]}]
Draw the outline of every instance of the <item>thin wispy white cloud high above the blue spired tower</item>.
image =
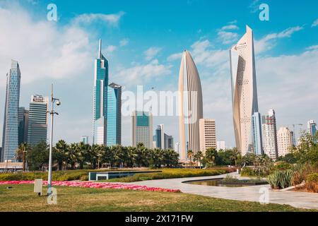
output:
[{"label": "thin wispy white cloud high above the blue spired tower", "polygon": [[102,13],[84,13],[81,15],[76,16],[76,18],[73,19],[73,23],[75,24],[90,24],[95,22],[96,20],[101,20],[108,25],[117,26],[119,23],[119,20],[124,16],[124,12],[120,11],[119,13],[114,14],[102,14]]}]

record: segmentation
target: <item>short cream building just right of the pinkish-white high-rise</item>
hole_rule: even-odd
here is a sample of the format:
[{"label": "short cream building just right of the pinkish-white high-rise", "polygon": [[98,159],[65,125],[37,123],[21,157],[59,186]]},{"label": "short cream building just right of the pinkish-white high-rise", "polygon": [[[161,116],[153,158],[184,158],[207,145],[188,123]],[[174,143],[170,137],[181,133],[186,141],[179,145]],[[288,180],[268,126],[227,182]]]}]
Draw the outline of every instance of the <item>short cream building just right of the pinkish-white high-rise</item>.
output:
[{"label": "short cream building just right of the pinkish-white high-rise", "polygon": [[277,132],[278,156],[285,156],[290,153],[293,147],[293,132],[287,127],[281,127]]}]

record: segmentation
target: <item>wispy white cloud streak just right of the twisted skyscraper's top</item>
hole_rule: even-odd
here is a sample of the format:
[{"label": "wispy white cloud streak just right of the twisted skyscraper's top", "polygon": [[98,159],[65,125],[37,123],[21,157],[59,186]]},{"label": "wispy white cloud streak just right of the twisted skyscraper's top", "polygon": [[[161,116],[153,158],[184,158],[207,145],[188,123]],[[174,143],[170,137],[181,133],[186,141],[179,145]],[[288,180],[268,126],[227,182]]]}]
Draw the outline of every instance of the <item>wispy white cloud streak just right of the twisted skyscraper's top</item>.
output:
[{"label": "wispy white cloud streak just right of the twisted skyscraper's top", "polygon": [[284,37],[291,37],[291,35],[293,35],[293,33],[298,32],[302,29],[303,29],[303,27],[300,27],[300,26],[296,26],[293,28],[287,28],[287,29],[283,30],[282,32],[271,33],[271,34],[263,37],[261,40],[256,40],[255,41],[255,53],[260,54],[261,52],[265,52],[269,49],[272,49],[276,44],[276,42],[275,42],[276,40],[284,38]]}]

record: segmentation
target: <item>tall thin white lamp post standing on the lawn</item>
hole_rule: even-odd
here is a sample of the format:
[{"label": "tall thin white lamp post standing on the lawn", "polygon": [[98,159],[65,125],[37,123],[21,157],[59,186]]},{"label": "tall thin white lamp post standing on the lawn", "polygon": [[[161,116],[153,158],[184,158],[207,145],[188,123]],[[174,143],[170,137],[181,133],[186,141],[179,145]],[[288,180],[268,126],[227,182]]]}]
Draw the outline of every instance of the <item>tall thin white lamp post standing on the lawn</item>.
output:
[{"label": "tall thin white lamp post standing on the lawn", "polygon": [[51,111],[48,111],[51,114],[51,134],[49,139],[49,176],[47,179],[47,195],[52,194],[52,147],[53,147],[53,121],[54,114],[59,115],[59,113],[54,112],[54,103],[57,106],[61,105],[59,99],[53,97],[53,84],[51,85]]}]

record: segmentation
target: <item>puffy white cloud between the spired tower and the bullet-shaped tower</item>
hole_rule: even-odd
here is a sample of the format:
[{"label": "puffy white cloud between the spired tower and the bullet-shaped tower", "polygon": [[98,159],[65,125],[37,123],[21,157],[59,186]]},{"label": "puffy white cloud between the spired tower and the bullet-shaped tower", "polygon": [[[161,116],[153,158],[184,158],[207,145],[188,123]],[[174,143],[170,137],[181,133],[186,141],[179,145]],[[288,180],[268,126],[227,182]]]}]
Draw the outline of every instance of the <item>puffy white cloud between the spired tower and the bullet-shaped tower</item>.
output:
[{"label": "puffy white cloud between the spired tower and the bullet-shaped tower", "polygon": [[[159,64],[157,59],[148,64],[136,65],[127,69],[120,69],[116,75],[120,81],[124,81],[126,85],[145,84],[151,78],[161,78],[171,73],[172,66]],[[124,84],[123,84],[124,85]]]}]

